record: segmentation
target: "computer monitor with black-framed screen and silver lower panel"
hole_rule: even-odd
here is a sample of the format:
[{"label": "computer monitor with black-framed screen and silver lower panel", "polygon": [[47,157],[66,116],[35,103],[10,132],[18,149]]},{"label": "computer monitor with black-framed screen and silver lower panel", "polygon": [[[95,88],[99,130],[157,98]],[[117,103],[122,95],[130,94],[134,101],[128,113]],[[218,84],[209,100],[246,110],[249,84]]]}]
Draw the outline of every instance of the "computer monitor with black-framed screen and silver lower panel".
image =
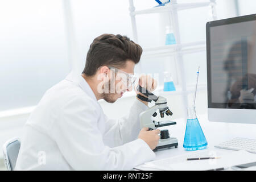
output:
[{"label": "computer monitor with black-framed screen and silver lower panel", "polygon": [[206,30],[209,121],[256,124],[256,14]]}]

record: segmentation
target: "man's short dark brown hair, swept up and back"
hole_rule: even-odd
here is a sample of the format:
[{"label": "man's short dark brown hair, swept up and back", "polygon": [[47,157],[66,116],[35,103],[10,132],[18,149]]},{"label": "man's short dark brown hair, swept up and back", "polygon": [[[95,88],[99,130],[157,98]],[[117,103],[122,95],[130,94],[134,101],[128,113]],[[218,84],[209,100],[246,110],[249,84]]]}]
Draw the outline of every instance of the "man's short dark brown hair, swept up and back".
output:
[{"label": "man's short dark brown hair, swept up and back", "polygon": [[127,60],[139,63],[142,48],[127,36],[103,34],[95,38],[90,44],[86,56],[85,68],[82,73],[93,76],[103,65],[123,68]]}]

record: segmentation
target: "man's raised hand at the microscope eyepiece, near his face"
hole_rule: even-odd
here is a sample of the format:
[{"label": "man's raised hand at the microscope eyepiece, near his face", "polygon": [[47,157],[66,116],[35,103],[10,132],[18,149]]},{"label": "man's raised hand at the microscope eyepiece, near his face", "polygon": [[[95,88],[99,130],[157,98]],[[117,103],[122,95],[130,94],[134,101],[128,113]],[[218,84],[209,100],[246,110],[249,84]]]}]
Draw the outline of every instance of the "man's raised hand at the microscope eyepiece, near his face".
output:
[{"label": "man's raised hand at the microscope eyepiece, near his face", "polygon": [[[141,85],[143,88],[147,89],[150,92],[154,91],[156,89],[156,87],[158,86],[158,82],[149,75],[142,75],[141,77],[139,77],[138,84]],[[135,85],[135,91],[136,91],[137,94],[140,94],[140,95],[144,96],[142,93],[140,93],[136,90],[138,84]],[[146,97],[146,96],[144,96],[144,97]],[[148,105],[148,102],[142,101],[138,97],[137,97],[137,99],[139,101],[143,102],[145,105]]]}]

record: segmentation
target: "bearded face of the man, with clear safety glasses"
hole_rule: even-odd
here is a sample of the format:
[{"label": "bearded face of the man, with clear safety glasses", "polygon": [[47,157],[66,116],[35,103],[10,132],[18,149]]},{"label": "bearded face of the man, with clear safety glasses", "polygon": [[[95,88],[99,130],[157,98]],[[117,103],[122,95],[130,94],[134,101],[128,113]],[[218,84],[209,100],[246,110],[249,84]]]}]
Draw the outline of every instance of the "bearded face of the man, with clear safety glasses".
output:
[{"label": "bearded face of the man, with clear safety glasses", "polygon": [[[110,69],[110,78],[108,82],[105,82],[104,88],[108,88],[109,92],[103,93],[103,99],[109,103],[114,103],[121,98],[123,93],[131,91],[132,86],[128,86],[126,73],[134,74],[134,62],[126,61],[126,67],[117,69]],[[122,72],[121,72],[122,71]],[[125,73],[123,73],[125,72]]]}]

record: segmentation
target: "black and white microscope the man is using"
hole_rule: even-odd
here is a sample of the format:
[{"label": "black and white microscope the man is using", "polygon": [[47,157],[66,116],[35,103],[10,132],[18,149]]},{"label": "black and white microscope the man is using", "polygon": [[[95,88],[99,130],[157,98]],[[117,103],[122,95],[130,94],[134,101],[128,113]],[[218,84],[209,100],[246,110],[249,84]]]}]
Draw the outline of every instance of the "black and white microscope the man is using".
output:
[{"label": "black and white microscope the man is using", "polygon": [[[166,98],[162,96],[155,96],[153,93],[149,92],[141,85],[138,85],[137,91],[141,92],[144,96],[137,94],[137,97],[142,101],[151,102],[154,101],[155,105],[148,108],[147,110],[143,111],[139,114],[139,122],[141,124],[141,129],[143,127],[148,127],[149,130],[155,130],[158,127],[169,126],[169,125],[176,125],[174,121],[155,121],[151,120],[152,117],[156,117],[157,113],[156,110],[159,110],[160,117],[164,117],[164,113],[169,116],[172,115],[171,110],[167,106]],[[170,137],[169,130],[160,130],[160,140],[158,146],[153,151],[159,150],[161,148],[170,148],[175,147],[177,148],[178,142],[177,138]]]}]

